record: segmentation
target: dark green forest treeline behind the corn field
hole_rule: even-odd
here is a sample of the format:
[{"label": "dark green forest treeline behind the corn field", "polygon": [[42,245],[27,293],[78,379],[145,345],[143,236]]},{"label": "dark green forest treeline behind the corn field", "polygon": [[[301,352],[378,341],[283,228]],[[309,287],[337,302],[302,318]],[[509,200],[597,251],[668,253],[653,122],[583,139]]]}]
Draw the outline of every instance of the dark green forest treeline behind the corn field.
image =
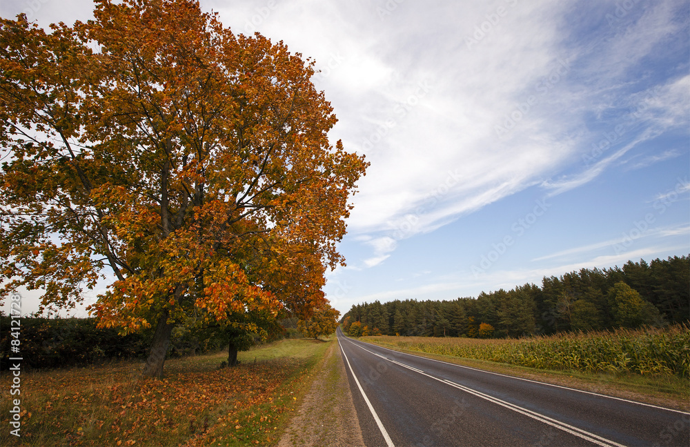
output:
[{"label": "dark green forest treeline behind the corn field", "polygon": [[568,330],[662,326],[690,320],[690,258],[544,277],[542,286],[482,292],[476,299],[352,306],[341,322],[351,335],[520,337]]}]

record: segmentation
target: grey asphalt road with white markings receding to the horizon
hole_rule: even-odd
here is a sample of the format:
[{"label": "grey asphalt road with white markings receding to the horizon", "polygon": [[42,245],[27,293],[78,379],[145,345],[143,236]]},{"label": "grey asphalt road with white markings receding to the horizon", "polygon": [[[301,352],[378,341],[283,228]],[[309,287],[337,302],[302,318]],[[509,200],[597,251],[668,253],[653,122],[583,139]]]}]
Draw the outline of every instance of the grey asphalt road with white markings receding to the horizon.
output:
[{"label": "grey asphalt road with white markings receding to the horizon", "polygon": [[690,446],[690,413],[337,336],[370,447]]}]

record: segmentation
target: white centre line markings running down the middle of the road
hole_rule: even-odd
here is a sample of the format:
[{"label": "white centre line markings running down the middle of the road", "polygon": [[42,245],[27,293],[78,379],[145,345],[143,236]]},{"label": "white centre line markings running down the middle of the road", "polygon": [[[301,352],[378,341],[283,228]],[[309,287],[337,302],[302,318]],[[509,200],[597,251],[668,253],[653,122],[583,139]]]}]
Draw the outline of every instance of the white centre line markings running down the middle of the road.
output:
[{"label": "white centre line markings running down the middle of the road", "polygon": [[[599,435],[595,435],[594,433],[590,433],[586,430],[582,430],[582,428],[571,426],[569,424],[566,424],[565,422],[558,421],[556,419],[552,419],[551,417],[544,416],[540,413],[536,413],[532,410],[528,410],[527,408],[523,408],[523,407],[517,406],[515,404],[511,404],[510,402],[506,402],[502,399],[498,399],[497,397],[493,397],[491,395],[486,395],[484,393],[481,393],[480,391],[473,390],[471,388],[467,388],[466,386],[462,386],[460,384],[456,384],[455,382],[452,382],[452,381],[449,381],[446,379],[440,379],[438,377],[434,377],[433,375],[429,375],[427,373],[424,373],[424,371],[422,371],[422,370],[418,370],[417,368],[413,368],[412,366],[402,364],[399,361],[388,359],[388,357],[379,355],[376,352],[372,352],[372,351],[370,351],[366,348],[363,348],[362,346],[359,346],[355,343],[353,343],[353,344],[362,350],[366,350],[366,352],[370,352],[371,354],[376,355],[377,357],[381,357],[382,359],[386,359],[388,361],[391,361],[391,363],[400,365],[403,368],[413,370],[416,373],[420,373],[422,375],[425,375],[426,377],[440,381],[442,384],[453,386],[455,388],[458,388],[459,390],[463,390],[465,393],[470,393],[471,395],[475,395],[475,396],[480,397],[482,399],[488,400],[488,401],[492,402],[493,404],[497,404],[497,405],[500,405],[504,408],[508,408],[509,410],[513,410],[516,413],[520,413],[521,415],[531,417],[532,419],[543,422],[544,424],[548,424],[552,427],[558,428],[559,430],[563,430],[566,433],[570,433],[573,436],[580,437],[586,441],[592,442],[593,444],[597,444],[598,446],[602,446],[602,447],[611,447],[611,446],[625,447],[622,444],[618,444],[615,441],[611,441],[611,439],[606,439],[604,437],[600,437]],[[415,356],[415,357],[417,357],[417,356]],[[422,357],[422,358],[424,358],[424,357]],[[510,376],[508,376],[508,377],[510,377]]]}]

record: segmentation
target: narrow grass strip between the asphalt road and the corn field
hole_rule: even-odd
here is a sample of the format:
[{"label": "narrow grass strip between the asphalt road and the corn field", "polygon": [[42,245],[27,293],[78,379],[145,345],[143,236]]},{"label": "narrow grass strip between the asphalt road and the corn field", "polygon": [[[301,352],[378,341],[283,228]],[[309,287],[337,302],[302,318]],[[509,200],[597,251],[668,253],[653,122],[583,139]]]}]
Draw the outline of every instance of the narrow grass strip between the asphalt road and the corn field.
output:
[{"label": "narrow grass strip between the asphalt road and the corn field", "polygon": [[[640,401],[676,410],[690,411],[690,383],[687,378],[678,377],[676,375],[588,373],[572,369],[550,370],[530,368],[498,361],[435,354],[414,348],[414,346],[419,346],[416,342],[420,340],[424,341],[424,339],[429,339],[435,344],[440,343],[439,339],[434,337],[380,336],[361,337],[360,339],[368,343],[383,346],[384,348],[407,352],[428,359],[446,361],[461,366],[469,366],[470,368],[477,368],[491,373],[542,381],[547,384],[566,386],[578,390],[589,391],[591,393],[620,397],[622,399]],[[410,339],[414,339],[415,343],[411,343]],[[464,339],[463,341],[470,342],[471,340]],[[400,344],[405,344],[407,347],[402,348]]]}]

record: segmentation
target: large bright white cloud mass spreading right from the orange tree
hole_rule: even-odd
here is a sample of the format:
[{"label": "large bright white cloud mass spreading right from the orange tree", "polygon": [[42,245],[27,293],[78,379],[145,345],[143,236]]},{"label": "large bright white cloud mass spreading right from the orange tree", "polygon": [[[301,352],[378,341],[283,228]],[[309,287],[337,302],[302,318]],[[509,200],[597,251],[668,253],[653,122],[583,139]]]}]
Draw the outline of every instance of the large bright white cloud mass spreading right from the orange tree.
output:
[{"label": "large bright white cloud mass spreading right from the orange tree", "polygon": [[[385,17],[364,2],[279,3],[266,17],[253,3],[208,4],[239,30],[252,28],[255,19],[257,30],[315,57],[324,70],[318,86],[340,119],[332,137],[371,161],[348,230],[396,240],[433,231],[535,184],[551,194],[576,188],[635,143],[653,138],[650,131],[580,174],[549,180],[582,150],[585,137],[570,135],[585,122],[598,92],[620,88],[612,74],[633,66],[640,52],[675,29],[667,26],[673,8],[649,8],[627,24],[638,34],[612,28],[575,46],[562,33],[573,14],[568,2],[448,2],[435,8],[405,2]],[[499,6],[505,14],[489,29],[486,16]],[[595,14],[604,20],[609,9],[615,11],[615,2],[602,3]],[[656,28],[649,30],[650,23]],[[477,33],[482,25],[486,31]],[[585,28],[584,21],[578,27]],[[602,48],[608,48],[604,60]],[[582,79],[602,83],[590,94]],[[457,180],[445,181],[449,171]],[[371,248],[366,266],[394,250]]]}]

